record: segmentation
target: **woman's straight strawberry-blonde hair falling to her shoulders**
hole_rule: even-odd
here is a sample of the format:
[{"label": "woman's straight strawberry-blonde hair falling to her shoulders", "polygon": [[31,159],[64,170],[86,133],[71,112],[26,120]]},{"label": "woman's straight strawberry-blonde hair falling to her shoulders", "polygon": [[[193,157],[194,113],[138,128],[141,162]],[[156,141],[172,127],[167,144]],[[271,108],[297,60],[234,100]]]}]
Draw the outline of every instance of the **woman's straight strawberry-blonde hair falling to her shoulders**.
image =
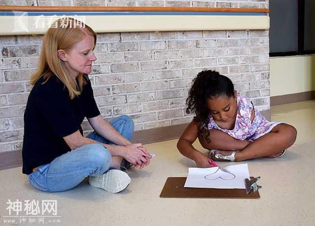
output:
[{"label": "woman's straight strawberry-blonde hair falling to her shoulders", "polygon": [[36,72],[32,75],[30,84],[44,76],[44,83],[51,77],[57,76],[68,89],[72,100],[80,95],[86,81],[83,74],[77,76],[78,84],[71,78],[66,70],[64,62],[58,57],[59,49],[69,49],[75,43],[81,41],[86,35],[93,35],[96,43],[96,34],[92,28],[81,21],[66,17],[54,22],[43,38],[42,50]]}]

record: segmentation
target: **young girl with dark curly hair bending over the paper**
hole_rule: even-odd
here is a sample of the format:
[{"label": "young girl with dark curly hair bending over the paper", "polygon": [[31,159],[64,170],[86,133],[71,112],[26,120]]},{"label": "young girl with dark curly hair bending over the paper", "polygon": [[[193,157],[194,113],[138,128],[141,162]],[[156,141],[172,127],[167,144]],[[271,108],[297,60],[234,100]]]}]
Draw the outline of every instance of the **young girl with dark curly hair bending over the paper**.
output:
[{"label": "young girl with dark curly hair bending over the paper", "polygon": [[[269,122],[252,102],[237,94],[232,81],[216,71],[202,71],[192,81],[187,113],[195,113],[177,143],[178,150],[197,167],[218,161],[243,161],[257,157],[279,158],[296,139],[296,129]],[[209,156],[193,148],[199,139]]]}]

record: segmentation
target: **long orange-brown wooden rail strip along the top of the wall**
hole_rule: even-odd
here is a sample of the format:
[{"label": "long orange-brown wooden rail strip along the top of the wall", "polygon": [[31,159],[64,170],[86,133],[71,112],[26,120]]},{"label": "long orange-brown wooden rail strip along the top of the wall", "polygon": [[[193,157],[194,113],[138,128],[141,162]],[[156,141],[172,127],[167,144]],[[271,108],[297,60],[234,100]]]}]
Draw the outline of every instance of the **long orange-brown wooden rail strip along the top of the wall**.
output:
[{"label": "long orange-brown wooden rail strip along the top of the wall", "polygon": [[260,12],[269,13],[267,8],[201,8],[201,7],[125,7],[125,6],[16,6],[1,5],[0,11],[85,11],[85,12],[106,12],[106,11],[177,11],[177,12]]}]

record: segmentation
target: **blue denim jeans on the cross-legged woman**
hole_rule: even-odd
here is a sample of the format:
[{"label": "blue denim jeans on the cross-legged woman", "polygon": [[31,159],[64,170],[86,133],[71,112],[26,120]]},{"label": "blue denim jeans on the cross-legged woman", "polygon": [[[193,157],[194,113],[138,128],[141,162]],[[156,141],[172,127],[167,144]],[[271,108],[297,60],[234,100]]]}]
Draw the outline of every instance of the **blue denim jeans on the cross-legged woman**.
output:
[{"label": "blue denim jeans on the cross-legged woman", "polygon": [[[133,121],[122,115],[110,121],[110,124],[126,139],[131,141]],[[88,138],[95,141],[113,144],[96,132]],[[37,167],[37,171],[29,174],[29,181],[39,190],[56,192],[71,189],[80,184],[86,177],[105,173],[112,160],[110,152],[101,144],[84,145],[68,151],[55,158],[51,163]]]}]

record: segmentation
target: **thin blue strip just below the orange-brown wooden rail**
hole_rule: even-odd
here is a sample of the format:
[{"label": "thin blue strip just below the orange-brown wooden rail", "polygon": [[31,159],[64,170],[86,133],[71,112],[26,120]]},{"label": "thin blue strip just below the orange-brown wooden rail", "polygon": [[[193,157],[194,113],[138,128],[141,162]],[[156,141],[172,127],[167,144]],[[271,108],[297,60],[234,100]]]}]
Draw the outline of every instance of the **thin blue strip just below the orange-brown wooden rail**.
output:
[{"label": "thin blue strip just below the orange-brown wooden rail", "polygon": [[267,13],[263,12],[0,12],[0,16],[53,16],[53,15],[220,15],[220,16],[266,16]]}]

